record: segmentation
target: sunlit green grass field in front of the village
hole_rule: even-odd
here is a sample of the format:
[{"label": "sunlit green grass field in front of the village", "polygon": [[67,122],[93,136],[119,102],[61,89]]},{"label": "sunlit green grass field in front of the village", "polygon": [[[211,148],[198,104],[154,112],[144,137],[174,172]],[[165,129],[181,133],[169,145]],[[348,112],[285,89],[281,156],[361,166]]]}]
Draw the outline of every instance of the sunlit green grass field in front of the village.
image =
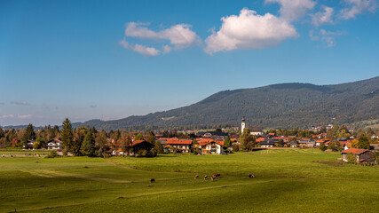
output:
[{"label": "sunlit green grass field in front of the village", "polygon": [[[379,167],[315,149],[0,158],[0,212],[377,212]],[[195,174],[221,173],[216,181]],[[248,178],[255,173],[257,178]],[[154,177],[156,183],[150,184]]]}]

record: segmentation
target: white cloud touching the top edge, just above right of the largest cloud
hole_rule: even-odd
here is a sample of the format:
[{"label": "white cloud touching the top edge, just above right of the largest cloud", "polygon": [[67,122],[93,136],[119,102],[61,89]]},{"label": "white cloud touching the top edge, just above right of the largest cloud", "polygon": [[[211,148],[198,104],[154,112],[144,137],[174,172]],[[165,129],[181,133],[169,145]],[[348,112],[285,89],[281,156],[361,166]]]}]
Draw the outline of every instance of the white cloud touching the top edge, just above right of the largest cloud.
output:
[{"label": "white cloud touching the top edge, just above right of the largest cloud", "polygon": [[288,21],[300,19],[316,4],[312,0],[265,0],[265,3],[279,3],[280,17]]}]

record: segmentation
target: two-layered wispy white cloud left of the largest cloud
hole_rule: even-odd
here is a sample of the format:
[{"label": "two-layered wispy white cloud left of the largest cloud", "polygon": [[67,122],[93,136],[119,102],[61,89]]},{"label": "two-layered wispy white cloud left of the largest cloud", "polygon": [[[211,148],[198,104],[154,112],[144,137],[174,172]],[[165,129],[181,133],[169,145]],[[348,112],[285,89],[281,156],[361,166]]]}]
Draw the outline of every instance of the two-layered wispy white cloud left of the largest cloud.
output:
[{"label": "two-layered wispy white cloud left of the largest cloud", "polygon": [[[154,39],[168,41],[174,45],[175,48],[185,48],[193,43],[201,43],[199,36],[196,35],[187,24],[174,25],[171,28],[162,29],[160,31],[154,31],[147,28],[146,23],[129,22],[126,24],[125,36],[136,37],[139,39]],[[131,51],[137,51],[144,56],[157,56],[161,53],[165,54],[172,51],[172,47],[164,45],[162,51],[155,47],[147,47],[142,44],[130,44],[126,40],[120,42],[122,46]]]}]

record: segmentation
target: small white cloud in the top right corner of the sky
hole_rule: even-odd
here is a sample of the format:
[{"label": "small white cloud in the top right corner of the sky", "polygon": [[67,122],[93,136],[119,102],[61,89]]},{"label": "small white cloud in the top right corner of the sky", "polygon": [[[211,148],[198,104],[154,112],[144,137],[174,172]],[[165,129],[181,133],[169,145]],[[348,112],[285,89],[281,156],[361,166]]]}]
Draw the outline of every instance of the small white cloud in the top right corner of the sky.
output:
[{"label": "small white cloud in the top right corner of the sky", "polygon": [[376,10],[375,0],[344,0],[344,2],[350,7],[341,10],[340,18],[343,20],[354,19],[363,12],[375,12]]}]

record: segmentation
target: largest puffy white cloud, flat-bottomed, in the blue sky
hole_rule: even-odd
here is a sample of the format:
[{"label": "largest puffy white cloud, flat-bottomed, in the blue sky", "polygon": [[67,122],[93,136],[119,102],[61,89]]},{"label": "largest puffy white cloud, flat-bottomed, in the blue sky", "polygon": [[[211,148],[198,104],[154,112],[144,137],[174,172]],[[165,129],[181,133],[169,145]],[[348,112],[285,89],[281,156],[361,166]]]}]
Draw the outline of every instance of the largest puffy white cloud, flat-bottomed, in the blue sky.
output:
[{"label": "largest puffy white cloud, flat-bottomed, in the blue sky", "polygon": [[223,17],[219,31],[213,32],[206,40],[205,51],[212,54],[216,51],[236,49],[261,49],[278,45],[289,37],[298,36],[287,20],[270,13],[257,15],[257,12],[243,8],[240,15]]}]

